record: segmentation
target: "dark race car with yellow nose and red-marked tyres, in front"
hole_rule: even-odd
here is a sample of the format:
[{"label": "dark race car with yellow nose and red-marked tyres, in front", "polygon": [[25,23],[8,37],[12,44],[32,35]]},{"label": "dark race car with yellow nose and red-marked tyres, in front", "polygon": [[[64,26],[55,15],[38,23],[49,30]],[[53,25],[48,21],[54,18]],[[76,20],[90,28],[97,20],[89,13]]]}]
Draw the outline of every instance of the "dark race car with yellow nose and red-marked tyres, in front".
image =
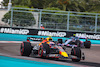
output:
[{"label": "dark race car with yellow nose and red-marked tyres, in front", "polygon": [[[30,40],[40,40],[41,42],[31,46]],[[51,37],[45,39],[28,37],[27,42],[21,44],[20,53],[22,56],[29,56],[31,54],[42,58],[72,59],[75,62],[85,59],[85,55],[79,47],[71,48],[70,53],[68,53],[61,46],[58,46]]]}]

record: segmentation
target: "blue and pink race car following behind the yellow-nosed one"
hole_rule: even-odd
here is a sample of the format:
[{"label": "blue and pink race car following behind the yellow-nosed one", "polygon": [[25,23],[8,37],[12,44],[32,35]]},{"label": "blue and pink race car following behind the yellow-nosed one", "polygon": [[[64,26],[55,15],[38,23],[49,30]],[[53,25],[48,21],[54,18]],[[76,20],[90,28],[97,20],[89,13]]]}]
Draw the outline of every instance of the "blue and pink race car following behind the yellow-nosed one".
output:
[{"label": "blue and pink race car following behind the yellow-nosed one", "polygon": [[[59,42],[62,42],[62,39],[58,40]],[[70,37],[68,40],[65,41],[65,43],[60,44],[67,47],[85,47],[85,48],[91,48],[91,42],[86,39],[85,42],[80,41],[78,37]]]}]

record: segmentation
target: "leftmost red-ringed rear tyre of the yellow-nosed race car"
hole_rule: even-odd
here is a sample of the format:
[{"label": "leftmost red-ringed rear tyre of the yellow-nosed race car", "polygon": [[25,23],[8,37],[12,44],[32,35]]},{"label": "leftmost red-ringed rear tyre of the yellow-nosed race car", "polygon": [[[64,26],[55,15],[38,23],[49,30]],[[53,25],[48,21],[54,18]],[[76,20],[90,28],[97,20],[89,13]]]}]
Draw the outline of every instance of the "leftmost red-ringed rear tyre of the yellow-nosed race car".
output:
[{"label": "leftmost red-ringed rear tyre of the yellow-nosed race car", "polygon": [[20,47],[22,56],[29,56],[31,54],[32,46],[30,42],[23,42]]}]

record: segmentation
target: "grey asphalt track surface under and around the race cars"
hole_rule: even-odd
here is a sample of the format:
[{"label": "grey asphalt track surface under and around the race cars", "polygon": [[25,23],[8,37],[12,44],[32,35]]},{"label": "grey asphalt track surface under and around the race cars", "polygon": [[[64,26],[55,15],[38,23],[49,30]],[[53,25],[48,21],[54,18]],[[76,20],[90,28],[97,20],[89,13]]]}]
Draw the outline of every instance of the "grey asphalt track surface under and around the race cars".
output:
[{"label": "grey asphalt track surface under and around the race cars", "polygon": [[[36,43],[35,43],[36,44]],[[34,45],[34,44],[32,44]],[[39,57],[25,57],[20,55],[20,43],[0,43],[0,55],[13,58],[75,66],[75,67],[100,67],[100,46],[92,46],[91,49],[82,48],[85,53],[85,60],[72,62],[70,59],[43,59]]]}]

